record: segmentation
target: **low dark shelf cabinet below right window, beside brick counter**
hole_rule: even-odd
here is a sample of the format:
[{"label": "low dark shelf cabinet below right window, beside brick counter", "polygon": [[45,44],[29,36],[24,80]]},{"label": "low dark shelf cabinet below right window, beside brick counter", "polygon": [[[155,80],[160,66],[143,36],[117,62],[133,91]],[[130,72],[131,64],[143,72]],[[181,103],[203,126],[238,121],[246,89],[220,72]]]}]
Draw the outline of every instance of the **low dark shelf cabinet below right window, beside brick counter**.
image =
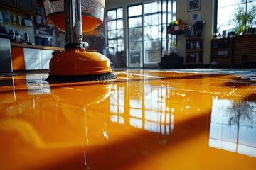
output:
[{"label": "low dark shelf cabinet below right window, beside brick counter", "polygon": [[234,38],[219,38],[211,40],[210,65],[233,66]]}]

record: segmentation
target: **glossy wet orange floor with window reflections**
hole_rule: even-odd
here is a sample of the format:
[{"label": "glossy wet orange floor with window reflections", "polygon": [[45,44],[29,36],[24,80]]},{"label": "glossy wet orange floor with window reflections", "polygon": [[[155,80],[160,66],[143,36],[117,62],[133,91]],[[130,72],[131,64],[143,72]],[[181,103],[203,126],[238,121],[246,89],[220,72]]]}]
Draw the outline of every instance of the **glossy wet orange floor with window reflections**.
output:
[{"label": "glossy wet orange floor with window reflections", "polygon": [[0,77],[0,169],[256,169],[255,70]]}]

